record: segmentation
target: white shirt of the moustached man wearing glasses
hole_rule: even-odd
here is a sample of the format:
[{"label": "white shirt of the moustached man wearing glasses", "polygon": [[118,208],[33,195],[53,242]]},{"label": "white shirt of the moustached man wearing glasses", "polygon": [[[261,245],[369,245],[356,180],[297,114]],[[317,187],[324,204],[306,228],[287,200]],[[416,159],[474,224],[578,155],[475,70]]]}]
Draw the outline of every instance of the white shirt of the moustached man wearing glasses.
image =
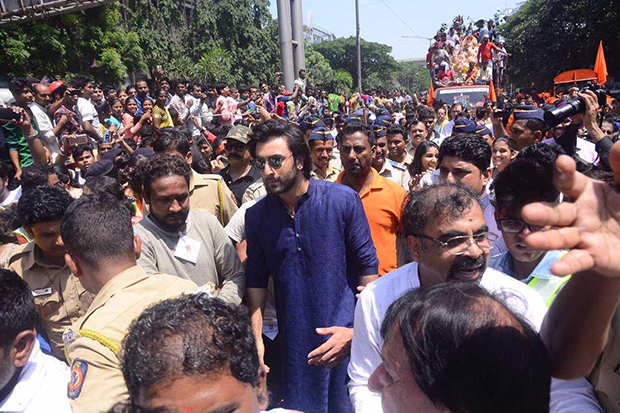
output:
[{"label": "white shirt of the moustached man wearing glasses", "polygon": [[[480,285],[501,294],[508,306],[538,331],[547,306],[527,285],[487,268]],[[418,264],[404,265],[372,282],[362,291],[355,306],[351,361],[348,367],[349,395],[356,413],[381,413],[381,396],[368,389],[370,375],[381,364],[381,323],[390,305],[407,291],[420,287]]]}]

